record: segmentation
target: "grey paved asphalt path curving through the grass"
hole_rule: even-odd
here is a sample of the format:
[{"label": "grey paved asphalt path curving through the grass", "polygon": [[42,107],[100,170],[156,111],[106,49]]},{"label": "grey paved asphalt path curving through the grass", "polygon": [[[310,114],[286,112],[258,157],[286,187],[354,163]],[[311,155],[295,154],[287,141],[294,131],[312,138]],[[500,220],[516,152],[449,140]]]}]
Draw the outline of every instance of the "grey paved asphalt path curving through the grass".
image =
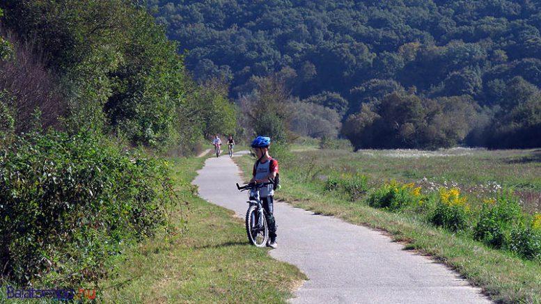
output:
[{"label": "grey paved asphalt path curving through the grass", "polygon": [[[207,159],[194,184],[205,200],[244,218],[239,168],[224,155]],[[270,255],[309,280],[292,303],[490,303],[457,273],[367,227],[275,202],[279,247]],[[248,240],[246,239],[246,242]]]}]

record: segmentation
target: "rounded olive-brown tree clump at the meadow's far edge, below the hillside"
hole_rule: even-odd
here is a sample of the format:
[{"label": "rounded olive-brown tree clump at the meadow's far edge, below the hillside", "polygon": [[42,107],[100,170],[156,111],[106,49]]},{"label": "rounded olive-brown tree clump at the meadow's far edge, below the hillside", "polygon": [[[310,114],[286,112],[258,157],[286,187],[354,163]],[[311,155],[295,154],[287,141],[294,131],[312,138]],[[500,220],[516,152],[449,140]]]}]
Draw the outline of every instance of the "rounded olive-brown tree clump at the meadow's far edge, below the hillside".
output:
[{"label": "rounded olive-brown tree clump at the meadow's far edge, below the hillside", "polygon": [[355,147],[451,147],[468,134],[476,117],[469,97],[421,99],[391,93],[378,104],[363,104],[350,115],[342,132]]}]

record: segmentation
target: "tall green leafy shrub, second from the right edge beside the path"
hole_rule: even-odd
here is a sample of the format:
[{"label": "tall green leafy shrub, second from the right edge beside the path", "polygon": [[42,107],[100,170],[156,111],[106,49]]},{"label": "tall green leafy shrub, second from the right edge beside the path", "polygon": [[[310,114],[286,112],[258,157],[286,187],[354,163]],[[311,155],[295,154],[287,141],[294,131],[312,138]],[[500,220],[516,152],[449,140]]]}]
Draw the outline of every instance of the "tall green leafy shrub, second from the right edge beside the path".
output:
[{"label": "tall green leafy shrub, second from the right edge beside the path", "polygon": [[519,202],[511,193],[501,193],[498,199],[487,199],[483,203],[479,221],[473,227],[473,239],[501,248],[505,245],[512,222],[521,215]]}]

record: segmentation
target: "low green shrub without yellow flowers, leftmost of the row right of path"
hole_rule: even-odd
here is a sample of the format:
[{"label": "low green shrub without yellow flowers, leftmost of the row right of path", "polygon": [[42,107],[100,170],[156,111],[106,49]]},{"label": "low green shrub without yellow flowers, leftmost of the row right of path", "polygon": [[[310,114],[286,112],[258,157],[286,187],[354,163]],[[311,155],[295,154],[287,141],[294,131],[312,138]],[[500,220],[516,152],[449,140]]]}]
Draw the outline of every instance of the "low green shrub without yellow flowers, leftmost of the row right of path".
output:
[{"label": "low green shrub without yellow flowers, leftmost of the row right of path", "polygon": [[357,173],[334,175],[325,182],[325,190],[340,191],[353,202],[368,191],[368,178]]}]

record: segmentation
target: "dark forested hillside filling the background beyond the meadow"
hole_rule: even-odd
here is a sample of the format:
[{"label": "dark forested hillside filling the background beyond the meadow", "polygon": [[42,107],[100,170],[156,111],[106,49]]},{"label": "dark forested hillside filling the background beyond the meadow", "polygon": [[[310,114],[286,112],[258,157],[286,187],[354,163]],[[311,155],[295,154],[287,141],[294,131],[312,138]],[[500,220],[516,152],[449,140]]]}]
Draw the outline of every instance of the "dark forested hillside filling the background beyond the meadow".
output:
[{"label": "dark forested hillside filling the background beyond the meadow", "polygon": [[196,79],[278,73],[356,147],[541,146],[538,1],[148,2]]}]

